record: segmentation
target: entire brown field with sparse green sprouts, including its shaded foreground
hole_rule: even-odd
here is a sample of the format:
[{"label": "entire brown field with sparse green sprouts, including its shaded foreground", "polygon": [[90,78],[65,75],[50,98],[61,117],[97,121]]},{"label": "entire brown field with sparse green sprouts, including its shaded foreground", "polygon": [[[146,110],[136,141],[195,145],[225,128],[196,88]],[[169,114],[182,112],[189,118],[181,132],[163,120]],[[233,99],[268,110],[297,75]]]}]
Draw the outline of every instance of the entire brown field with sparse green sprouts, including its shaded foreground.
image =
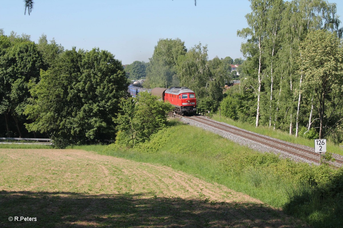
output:
[{"label": "entire brown field with sparse green sprouts, including its shaded foreground", "polygon": [[0,227],[307,227],[225,186],[94,152],[0,149],[0,173]]}]

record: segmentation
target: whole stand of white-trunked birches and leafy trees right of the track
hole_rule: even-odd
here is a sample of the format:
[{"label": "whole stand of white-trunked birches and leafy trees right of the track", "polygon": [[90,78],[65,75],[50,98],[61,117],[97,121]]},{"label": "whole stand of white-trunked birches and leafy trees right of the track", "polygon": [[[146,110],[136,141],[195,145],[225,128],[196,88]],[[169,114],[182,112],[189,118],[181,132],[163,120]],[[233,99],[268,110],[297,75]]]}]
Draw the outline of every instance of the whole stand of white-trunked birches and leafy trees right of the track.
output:
[{"label": "whole stand of white-trunked birches and leafy trees right of the track", "polygon": [[[235,119],[341,143],[342,28],[326,0],[250,0]],[[320,32],[321,31],[321,32]],[[324,32],[326,31],[326,32]],[[336,80],[337,79],[337,80]],[[243,105],[242,105],[243,104]],[[246,112],[247,110],[248,113]],[[252,117],[254,113],[255,117]],[[248,114],[248,118],[244,118]]]}]

